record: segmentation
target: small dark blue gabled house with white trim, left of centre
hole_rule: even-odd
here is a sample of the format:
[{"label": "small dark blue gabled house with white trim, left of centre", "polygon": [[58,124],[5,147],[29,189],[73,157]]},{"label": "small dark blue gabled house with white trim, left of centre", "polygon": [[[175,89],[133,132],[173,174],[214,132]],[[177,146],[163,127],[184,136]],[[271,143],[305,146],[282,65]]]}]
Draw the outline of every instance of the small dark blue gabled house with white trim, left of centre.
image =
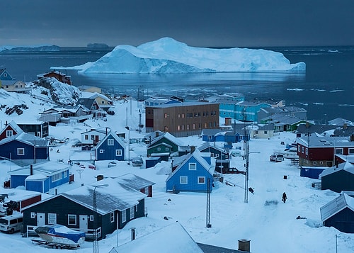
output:
[{"label": "small dark blue gabled house with white trim, left of centre", "polygon": [[110,133],[103,137],[93,150],[96,151],[96,161],[125,160],[125,144],[113,131],[110,131]]}]

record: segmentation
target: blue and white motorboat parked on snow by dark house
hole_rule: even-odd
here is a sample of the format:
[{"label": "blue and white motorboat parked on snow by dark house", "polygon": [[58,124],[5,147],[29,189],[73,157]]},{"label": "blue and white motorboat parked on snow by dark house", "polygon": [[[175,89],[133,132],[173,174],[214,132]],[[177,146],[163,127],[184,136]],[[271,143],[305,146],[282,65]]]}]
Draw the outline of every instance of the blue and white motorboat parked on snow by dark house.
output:
[{"label": "blue and white motorboat parked on snow by dark house", "polygon": [[71,230],[64,225],[43,225],[35,227],[35,232],[47,243],[79,247],[85,242],[85,233]]}]

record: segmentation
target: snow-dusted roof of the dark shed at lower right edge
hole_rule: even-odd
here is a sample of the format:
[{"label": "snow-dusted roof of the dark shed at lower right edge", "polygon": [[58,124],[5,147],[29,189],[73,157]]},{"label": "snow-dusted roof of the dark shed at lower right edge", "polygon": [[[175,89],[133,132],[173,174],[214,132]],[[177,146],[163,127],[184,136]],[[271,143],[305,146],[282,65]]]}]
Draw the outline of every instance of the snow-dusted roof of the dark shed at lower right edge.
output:
[{"label": "snow-dusted roof of the dark shed at lower right edge", "polygon": [[321,220],[324,221],[331,218],[344,208],[349,208],[354,212],[354,198],[348,196],[346,193],[342,193],[340,196],[333,199],[333,201],[326,203],[326,205],[320,208]]}]

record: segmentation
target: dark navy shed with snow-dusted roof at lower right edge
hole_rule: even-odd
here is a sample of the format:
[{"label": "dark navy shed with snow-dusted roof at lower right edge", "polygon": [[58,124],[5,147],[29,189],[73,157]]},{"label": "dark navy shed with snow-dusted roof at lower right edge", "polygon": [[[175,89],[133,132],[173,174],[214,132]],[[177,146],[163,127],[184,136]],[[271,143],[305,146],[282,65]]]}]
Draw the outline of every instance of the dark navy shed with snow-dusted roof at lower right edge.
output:
[{"label": "dark navy shed with snow-dusted roof at lower right edge", "polygon": [[320,208],[321,220],[326,227],[354,233],[354,198],[342,193]]}]

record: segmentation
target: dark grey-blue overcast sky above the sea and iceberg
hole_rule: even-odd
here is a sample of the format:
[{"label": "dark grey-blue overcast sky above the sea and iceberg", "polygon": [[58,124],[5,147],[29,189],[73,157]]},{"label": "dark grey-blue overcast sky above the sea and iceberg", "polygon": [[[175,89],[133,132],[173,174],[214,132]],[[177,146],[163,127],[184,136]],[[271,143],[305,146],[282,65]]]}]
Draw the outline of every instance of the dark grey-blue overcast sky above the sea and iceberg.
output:
[{"label": "dark grey-blue overcast sky above the sea and iceberg", "polygon": [[354,0],[1,0],[0,46],[354,45]]}]

